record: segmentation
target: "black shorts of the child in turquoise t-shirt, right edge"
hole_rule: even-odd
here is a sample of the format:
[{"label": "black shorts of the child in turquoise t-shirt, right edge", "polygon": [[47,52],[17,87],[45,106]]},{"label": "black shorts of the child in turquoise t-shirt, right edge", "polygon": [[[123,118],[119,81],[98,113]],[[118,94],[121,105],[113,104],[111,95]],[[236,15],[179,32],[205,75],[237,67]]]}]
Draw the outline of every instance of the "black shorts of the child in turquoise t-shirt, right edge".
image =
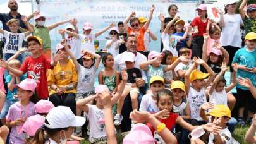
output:
[{"label": "black shorts of the child in turquoise t-shirt, right edge", "polygon": [[237,107],[247,107],[248,111],[256,112],[256,99],[252,96],[250,90],[243,90],[241,88],[236,88],[237,97]]}]

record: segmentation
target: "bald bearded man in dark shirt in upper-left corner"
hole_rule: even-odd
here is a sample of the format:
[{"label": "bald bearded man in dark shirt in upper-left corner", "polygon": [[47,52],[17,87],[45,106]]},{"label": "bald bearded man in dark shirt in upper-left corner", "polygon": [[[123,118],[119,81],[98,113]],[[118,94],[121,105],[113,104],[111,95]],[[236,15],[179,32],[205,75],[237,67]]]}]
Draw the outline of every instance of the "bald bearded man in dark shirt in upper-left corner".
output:
[{"label": "bald bearded man in dark shirt in upper-left corner", "polygon": [[[27,29],[23,21],[21,20],[21,15],[18,13],[18,3],[16,0],[9,0],[8,8],[10,9],[9,13],[0,13],[0,21],[3,23],[3,29],[10,32],[6,23],[12,18],[20,20],[20,27]],[[20,31],[19,31],[20,33]]]}]

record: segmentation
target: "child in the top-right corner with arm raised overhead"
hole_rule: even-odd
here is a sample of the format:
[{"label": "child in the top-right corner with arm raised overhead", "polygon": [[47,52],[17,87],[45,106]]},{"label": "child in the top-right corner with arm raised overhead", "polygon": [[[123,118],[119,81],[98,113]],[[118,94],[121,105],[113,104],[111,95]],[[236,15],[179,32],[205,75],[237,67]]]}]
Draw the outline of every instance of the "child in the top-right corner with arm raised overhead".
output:
[{"label": "child in the top-right corner with arm raised overhead", "polygon": [[247,6],[247,14],[243,10],[245,7],[245,4],[247,4],[247,0],[243,0],[239,7],[239,12],[241,15],[241,18],[243,19],[243,24],[245,27],[245,34],[249,32],[256,32],[255,26],[253,26],[253,23],[256,23],[256,5],[254,4],[249,4]]}]

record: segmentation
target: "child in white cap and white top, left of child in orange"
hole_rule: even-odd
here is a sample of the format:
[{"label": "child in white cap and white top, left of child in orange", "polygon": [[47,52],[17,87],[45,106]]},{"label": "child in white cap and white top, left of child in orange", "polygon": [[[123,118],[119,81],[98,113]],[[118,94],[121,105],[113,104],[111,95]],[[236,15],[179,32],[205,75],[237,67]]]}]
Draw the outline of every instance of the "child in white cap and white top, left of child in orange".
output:
[{"label": "child in white cap and white top, left of child in orange", "polygon": [[117,28],[111,28],[109,36],[111,39],[106,42],[107,52],[111,53],[113,57],[116,57],[119,54],[119,45],[124,44],[125,41],[118,40]]}]

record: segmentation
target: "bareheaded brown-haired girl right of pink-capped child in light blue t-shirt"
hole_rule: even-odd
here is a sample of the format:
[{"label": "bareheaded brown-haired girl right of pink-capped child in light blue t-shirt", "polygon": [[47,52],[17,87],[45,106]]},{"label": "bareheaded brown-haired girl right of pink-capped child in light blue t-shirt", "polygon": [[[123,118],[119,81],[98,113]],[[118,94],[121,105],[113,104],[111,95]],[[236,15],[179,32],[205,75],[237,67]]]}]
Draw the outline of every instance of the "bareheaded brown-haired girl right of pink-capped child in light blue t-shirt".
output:
[{"label": "bareheaded brown-haired girl right of pink-capped child in light blue t-shirt", "polygon": [[[162,57],[162,65],[171,65],[173,54],[169,50],[162,51],[164,57]],[[176,80],[176,75],[174,73],[174,69],[171,71],[164,72],[164,85],[166,88],[171,86],[171,81]]]}]

